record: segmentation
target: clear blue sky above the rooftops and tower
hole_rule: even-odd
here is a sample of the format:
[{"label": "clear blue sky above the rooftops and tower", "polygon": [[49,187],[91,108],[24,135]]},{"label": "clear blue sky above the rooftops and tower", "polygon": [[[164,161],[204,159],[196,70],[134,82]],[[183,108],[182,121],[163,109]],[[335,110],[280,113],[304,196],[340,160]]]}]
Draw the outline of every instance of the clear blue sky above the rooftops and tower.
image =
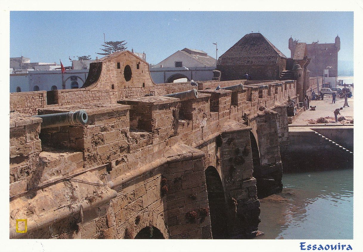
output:
[{"label": "clear blue sky above the rooftops and tower", "polygon": [[[12,11],[10,57],[69,66],[69,56],[91,55],[106,41],[127,42],[156,64],[184,47],[213,58],[250,32],[260,32],[287,57],[288,39],[334,43],[339,34],[339,60],[353,60],[353,12],[139,12]],[[75,58],[73,58],[75,56]]]}]

